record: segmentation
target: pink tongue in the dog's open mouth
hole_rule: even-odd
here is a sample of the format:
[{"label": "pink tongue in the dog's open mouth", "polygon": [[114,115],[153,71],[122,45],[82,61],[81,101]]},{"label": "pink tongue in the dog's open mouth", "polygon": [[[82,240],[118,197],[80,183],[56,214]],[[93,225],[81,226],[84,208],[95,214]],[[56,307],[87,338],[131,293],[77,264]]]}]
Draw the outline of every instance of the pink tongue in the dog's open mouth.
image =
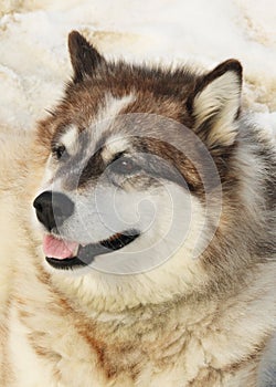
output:
[{"label": "pink tongue in the dog's open mouth", "polygon": [[64,260],[66,258],[73,258],[78,243],[67,242],[54,238],[53,236],[45,236],[43,238],[44,254],[49,258],[56,258]]}]

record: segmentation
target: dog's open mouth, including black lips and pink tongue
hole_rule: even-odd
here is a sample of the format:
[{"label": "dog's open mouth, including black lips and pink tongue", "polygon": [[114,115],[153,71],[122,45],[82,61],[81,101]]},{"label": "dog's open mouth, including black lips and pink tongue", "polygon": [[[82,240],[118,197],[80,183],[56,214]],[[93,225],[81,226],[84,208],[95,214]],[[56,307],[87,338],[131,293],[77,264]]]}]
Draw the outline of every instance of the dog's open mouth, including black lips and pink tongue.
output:
[{"label": "dog's open mouth, including black lips and pink tongue", "polygon": [[97,255],[125,248],[134,242],[139,234],[137,230],[128,230],[113,234],[100,242],[86,245],[47,234],[43,239],[43,250],[51,266],[55,269],[73,269],[91,264]]}]

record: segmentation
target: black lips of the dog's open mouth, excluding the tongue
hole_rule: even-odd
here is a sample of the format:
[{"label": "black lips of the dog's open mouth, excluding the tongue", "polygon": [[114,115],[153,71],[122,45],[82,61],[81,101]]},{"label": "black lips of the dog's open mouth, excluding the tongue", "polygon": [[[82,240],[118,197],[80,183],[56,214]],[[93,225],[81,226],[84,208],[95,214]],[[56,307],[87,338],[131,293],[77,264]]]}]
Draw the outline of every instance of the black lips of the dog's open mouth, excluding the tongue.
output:
[{"label": "black lips of the dog's open mouth, excluding the tongue", "polygon": [[97,243],[78,244],[75,257],[72,257],[71,254],[70,257],[63,259],[54,257],[45,257],[45,259],[47,263],[55,269],[73,269],[74,266],[86,266],[94,261],[95,257],[120,250],[129,243],[134,242],[139,236],[140,232],[134,229],[117,232],[108,239],[102,240]]}]

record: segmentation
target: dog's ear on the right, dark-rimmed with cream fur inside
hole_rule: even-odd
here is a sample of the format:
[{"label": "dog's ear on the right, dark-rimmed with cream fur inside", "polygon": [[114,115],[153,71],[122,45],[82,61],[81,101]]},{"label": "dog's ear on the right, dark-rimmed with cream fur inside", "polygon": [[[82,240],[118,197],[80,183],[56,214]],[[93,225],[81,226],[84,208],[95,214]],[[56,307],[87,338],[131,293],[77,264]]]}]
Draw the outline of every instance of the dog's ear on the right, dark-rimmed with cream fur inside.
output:
[{"label": "dog's ear on the right, dark-rimmed with cream fur inside", "polygon": [[195,132],[208,146],[230,146],[235,140],[242,72],[238,61],[223,62],[200,77],[188,98],[187,107],[194,118]]}]

